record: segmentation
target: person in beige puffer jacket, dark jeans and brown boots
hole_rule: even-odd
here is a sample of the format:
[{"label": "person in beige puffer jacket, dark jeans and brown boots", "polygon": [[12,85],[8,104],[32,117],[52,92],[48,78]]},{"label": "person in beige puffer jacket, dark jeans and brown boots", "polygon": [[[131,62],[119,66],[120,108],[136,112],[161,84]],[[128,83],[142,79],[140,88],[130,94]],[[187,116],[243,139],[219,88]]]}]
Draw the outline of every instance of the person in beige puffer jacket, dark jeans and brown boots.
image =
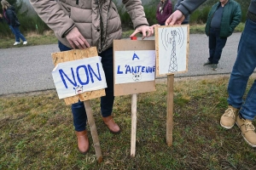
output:
[{"label": "person in beige puffer jacket, dark jeans and brown boots", "polygon": [[[131,16],[136,29],[131,37],[138,32],[144,37],[153,34],[153,28],[143,11],[140,0],[123,0],[125,8]],[[113,40],[122,36],[121,21],[118,10],[112,0],[87,1],[52,1],[30,0],[33,8],[44,22],[55,31],[61,51],[72,48],[89,48],[96,46],[99,56],[102,57],[102,66],[105,72],[108,88],[106,96],[101,98],[102,120],[111,133],[120,133],[119,126],[113,121]],[[85,17],[86,16],[86,17]],[[86,131],[87,116],[84,103],[72,105],[73,125],[77,135],[79,151],[85,154],[89,148],[89,139]]]}]

